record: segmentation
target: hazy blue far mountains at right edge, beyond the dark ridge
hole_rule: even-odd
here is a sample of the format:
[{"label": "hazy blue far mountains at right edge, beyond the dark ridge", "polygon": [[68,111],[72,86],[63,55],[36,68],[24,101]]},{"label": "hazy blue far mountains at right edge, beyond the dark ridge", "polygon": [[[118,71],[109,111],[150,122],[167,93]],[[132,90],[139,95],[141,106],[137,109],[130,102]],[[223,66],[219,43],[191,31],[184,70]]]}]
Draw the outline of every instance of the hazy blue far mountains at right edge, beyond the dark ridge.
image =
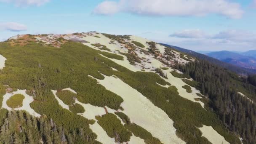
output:
[{"label": "hazy blue far mountains at right edge, beyond the dark ridge", "polygon": [[252,69],[256,68],[256,59],[250,56],[243,56],[241,54],[233,53],[230,51],[218,51],[207,53],[206,55],[239,67]]}]

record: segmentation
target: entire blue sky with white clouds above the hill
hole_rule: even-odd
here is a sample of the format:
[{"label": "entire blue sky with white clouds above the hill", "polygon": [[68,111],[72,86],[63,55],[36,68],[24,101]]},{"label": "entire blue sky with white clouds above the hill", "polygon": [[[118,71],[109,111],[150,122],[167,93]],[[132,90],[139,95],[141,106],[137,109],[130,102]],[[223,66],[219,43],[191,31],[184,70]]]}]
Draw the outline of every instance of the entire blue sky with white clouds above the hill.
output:
[{"label": "entire blue sky with white clouds above the hill", "polygon": [[256,0],[0,0],[0,41],[97,31],[194,51],[256,49]]}]

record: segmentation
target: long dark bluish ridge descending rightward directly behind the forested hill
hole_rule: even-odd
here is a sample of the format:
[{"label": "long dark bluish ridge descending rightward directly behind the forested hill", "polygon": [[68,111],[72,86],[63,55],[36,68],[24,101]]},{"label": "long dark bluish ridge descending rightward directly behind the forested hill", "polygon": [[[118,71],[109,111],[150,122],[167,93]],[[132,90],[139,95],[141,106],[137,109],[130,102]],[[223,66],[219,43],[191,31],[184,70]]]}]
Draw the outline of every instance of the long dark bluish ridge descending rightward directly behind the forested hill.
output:
[{"label": "long dark bluish ridge descending rightward directly behind the forested hill", "polygon": [[212,64],[216,64],[220,67],[228,69],[232,72],[237,73],[238,75],[246,75],[247,76],[247,75],[251,75],[251,74],[256,74],[256,69],[240,67],[240,66],[236,66],[235,64],[229,64],[228,62],[221,61],[221,60],[213,58],[211,56],[207,56],[207,54],[197,53],[195,51],[191,51],[191,50],[188,50],[188,49],[185,49],[185,48],[180,48],[180,47],[177,47],[177,46],[167,45],[167,44],[162,44],[162,45],[165,45],[167,47],[176,49],[176,50],[181,51],[183,53],[187,53],[187,54],[189,54],[191,56],[194,56],[198,59],[210,61]]}]

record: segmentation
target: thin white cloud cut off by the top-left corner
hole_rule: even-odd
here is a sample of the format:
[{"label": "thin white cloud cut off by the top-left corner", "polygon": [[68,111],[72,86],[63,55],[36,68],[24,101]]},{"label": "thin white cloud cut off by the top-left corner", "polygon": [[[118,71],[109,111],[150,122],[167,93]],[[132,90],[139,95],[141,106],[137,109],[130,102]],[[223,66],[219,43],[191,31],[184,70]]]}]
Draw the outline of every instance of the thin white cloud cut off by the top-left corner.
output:
[{"label": "thin white cloud cut off by the top-left corner", "polygon": [[14,3],[16,6],[29,6],[29,5],[43,5],[50,0],[0,0],[0,2],[4,3]]}]

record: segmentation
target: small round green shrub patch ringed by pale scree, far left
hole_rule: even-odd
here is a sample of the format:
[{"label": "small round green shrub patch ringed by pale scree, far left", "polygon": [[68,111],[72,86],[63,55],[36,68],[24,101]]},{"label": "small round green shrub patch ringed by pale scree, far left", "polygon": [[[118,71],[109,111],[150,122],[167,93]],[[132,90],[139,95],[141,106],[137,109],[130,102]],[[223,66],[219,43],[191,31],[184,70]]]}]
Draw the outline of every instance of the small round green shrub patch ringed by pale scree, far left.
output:
[{"label": "small round green shrub patch ringed by pale scree, far left", "polygon": [[25,99],[25,96],[23,96],[22,94],[15,94],[6,101],[6,104],[8,105],[8,107],[11,108],[22,107],[23,99]]}]

